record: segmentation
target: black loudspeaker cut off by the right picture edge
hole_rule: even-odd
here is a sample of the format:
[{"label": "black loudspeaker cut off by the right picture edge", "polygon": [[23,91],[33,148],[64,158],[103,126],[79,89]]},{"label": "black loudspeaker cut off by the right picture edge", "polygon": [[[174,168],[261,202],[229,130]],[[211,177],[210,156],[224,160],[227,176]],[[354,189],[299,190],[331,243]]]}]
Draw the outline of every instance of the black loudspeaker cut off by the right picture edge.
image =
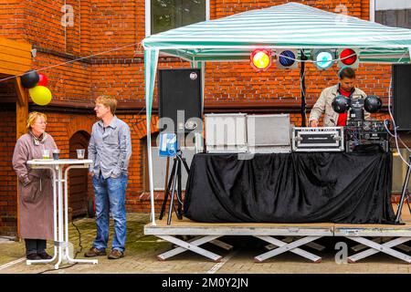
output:
[{"label": "black loudspeaker cut off by the right picture edge", "polygon": [[393,65],[394,119],[398,130],[411,130],[411,65]]}]

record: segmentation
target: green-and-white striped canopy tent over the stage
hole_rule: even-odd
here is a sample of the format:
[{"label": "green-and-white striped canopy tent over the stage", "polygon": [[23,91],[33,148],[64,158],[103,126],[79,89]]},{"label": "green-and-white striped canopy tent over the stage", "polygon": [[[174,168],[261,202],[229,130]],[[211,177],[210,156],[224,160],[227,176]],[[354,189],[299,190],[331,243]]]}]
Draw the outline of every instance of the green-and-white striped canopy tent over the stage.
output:
[{"label": "green-and-white striped canopy tent over the stage", "polygon": [[193,67],[203,69],[202,65],[206,61],[248,60],[251,51],[256,48],[269,48],[274,56],[279,48],[304,49],[304,54],[310,57],[313,48],[349,47],[360,50],[359,58],[363,63],[407,63],[410,61],[411,30],[383,26],[307,5],[287,3],[148,36],[143,39],[142,46],[152,223],[155,224],[149,133],[160,53],[180,57],[191,62]]}]

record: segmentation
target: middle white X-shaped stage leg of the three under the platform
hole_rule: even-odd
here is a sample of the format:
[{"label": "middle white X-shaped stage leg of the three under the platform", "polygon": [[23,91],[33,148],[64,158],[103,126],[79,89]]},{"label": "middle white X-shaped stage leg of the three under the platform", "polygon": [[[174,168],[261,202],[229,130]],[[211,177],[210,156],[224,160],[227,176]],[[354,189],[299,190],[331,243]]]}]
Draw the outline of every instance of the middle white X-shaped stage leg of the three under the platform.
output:
[{"label": "middle white X-shaped stage leg of the three under the platform", "polygon": [[268,242],[271,245],[277,245],[279,247],[277,247],[274,250],[270,250],[267,253],[264,253],[262,255],[258,255],[256,257],[254,257],[256,262],[262,262],[272,256],[276,256],[285,252],[291,252],[294,253],[296,255],[300,255],[302,257],[308,258],[311,261],[313,261],[314,263],[321,263],[321,257],[318,255],[313,255],[303,249],[298,248],[298,246],[300,245],[307,245],[308,243],[311,243],[314,240],[317,240],[319,238],[321,238],[322,236],[306,236],[306,237],[302,237],[299,240],[296,240],[294,242],[291,242],[290,244],[285,243],[280,241],[279,239],[276,239],[274,237],[271,236],[260,236],[260,235],[255,235],[255,237],[264,240],[266,242]]}]

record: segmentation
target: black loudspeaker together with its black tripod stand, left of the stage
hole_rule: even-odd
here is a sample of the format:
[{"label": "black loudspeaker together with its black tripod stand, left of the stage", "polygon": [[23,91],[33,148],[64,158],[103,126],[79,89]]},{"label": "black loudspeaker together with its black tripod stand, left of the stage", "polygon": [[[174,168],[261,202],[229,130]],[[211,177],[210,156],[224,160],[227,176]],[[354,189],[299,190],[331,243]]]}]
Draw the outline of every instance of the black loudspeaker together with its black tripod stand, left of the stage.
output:
[{"label": "black loudspeaker together with its black tripod stand, left of the stage", "polygon": [[174,194],[177,199],[177,210],[174,208],[174,211],[178,219],[183,218],[182,166],[187,174],[190,172],[180,146],[187,134],[202,125],[201,69],[160,69],[158,77],[159,129],[161,132],[175,133],[178,141],[159,216],[162,220],[170,197],[167,224],[171,224]]}]

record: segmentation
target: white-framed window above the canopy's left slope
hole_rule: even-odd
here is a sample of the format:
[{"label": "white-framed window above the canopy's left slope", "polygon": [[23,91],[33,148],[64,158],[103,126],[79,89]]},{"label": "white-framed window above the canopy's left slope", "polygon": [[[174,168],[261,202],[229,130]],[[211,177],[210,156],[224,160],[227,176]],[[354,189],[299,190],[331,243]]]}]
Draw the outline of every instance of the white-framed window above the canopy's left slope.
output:
[{"label": "white-framed window above the canopy's left slope", "polygon": [[145,35],[209,19],[209,0],[146,0]]}]

